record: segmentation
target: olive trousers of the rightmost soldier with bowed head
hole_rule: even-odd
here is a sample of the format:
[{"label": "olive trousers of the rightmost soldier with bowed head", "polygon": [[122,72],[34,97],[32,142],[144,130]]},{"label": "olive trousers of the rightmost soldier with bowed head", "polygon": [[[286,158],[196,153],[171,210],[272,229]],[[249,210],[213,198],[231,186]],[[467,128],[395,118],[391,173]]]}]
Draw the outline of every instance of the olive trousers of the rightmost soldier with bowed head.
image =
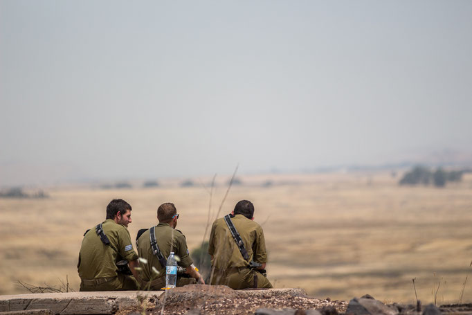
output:
[{"label": "olive trousers of the rightmost soldier with bowed head", "polygon": [[217,269],[213,271],[211,285],[227,285],[231,289],[272,288],[262,273],[247,267]]}]

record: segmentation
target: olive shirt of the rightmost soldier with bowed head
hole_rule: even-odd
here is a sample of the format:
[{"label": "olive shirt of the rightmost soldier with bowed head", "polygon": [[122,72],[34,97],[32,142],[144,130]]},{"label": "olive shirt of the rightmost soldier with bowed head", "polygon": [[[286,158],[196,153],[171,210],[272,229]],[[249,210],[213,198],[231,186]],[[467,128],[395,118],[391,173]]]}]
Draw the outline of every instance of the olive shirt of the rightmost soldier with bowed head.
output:
[{"label": "olive shirt of the rightmost soldier with bowed head", "polygon": [[219,218],[213,222],[208,253],[213,255],[212,266],[218,269],[228,269],[234,267],[248,267],[249,262],[267,262],[266,242],[262,227],[244,215],[235,215],[231,218],[236,230],[244,242],[244,247],[248,251],[249,260],[242,257],[233,235],[231,235],[224,218]]}]

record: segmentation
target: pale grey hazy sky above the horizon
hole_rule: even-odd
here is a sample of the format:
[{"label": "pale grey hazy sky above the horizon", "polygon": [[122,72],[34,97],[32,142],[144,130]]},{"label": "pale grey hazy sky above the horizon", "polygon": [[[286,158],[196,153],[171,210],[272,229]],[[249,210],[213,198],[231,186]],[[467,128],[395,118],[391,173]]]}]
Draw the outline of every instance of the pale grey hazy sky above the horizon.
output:
[{"label": "pale grey hazy sky above the horizon", "polygon": [[0,0],[0,184],[472,148],[472,1]]}]

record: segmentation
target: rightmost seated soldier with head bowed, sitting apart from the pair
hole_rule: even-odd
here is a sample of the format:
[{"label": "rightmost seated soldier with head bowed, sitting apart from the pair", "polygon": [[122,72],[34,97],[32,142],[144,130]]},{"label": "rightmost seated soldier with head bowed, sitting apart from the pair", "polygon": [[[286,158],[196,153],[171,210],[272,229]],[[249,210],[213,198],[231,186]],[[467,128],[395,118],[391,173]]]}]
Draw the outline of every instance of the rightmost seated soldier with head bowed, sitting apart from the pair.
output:
[{"label": "rightmost seated soldier with head bowed, sitting apart from the pair", "polygon": [[272,287],[264,270],[267,262],[264,232],[253,221],[253,215],[251,201],[242,200],[230,215],[213,222],[208,246],[211,285],[232,289]]}]

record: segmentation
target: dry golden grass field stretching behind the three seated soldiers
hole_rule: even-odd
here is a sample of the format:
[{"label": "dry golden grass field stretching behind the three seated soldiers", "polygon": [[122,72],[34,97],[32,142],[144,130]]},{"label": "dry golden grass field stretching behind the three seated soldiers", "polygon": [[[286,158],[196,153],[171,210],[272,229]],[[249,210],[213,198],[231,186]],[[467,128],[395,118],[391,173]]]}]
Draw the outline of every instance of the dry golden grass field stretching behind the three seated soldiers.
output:
[{"label": "dry golden grass field stretching behind the three seated soldiers", "polygon": [[[424,303],[472,302],[472,177],[446,188],[400,187],[390,174],[304,174],[240,177],[220,217],[239,199],[256,207],[269,251],[267,271],[275,287],[302,287],[318,298],[349,300],[371,294],[386,302],[412,303],[416,278]],[[261,183],[271,179],[273,185]],[[226,192],[221,178],[212,215]],[[208,182],[210,179],[203,179]],[[198,182],[198,181],[197,181]],[[0,199],[0,294],[24,293],[17,280],[78,289],[76,264],[82,234],[105,219],[113,198],[133,207],[131,237],[156,222],[156,208],[172,201],[178,228],[190,249],[202,242],[209,193],[202,186],[100,190],[48,189],[48,199]],[[208,237],[208,235],[207,235]]]}]

